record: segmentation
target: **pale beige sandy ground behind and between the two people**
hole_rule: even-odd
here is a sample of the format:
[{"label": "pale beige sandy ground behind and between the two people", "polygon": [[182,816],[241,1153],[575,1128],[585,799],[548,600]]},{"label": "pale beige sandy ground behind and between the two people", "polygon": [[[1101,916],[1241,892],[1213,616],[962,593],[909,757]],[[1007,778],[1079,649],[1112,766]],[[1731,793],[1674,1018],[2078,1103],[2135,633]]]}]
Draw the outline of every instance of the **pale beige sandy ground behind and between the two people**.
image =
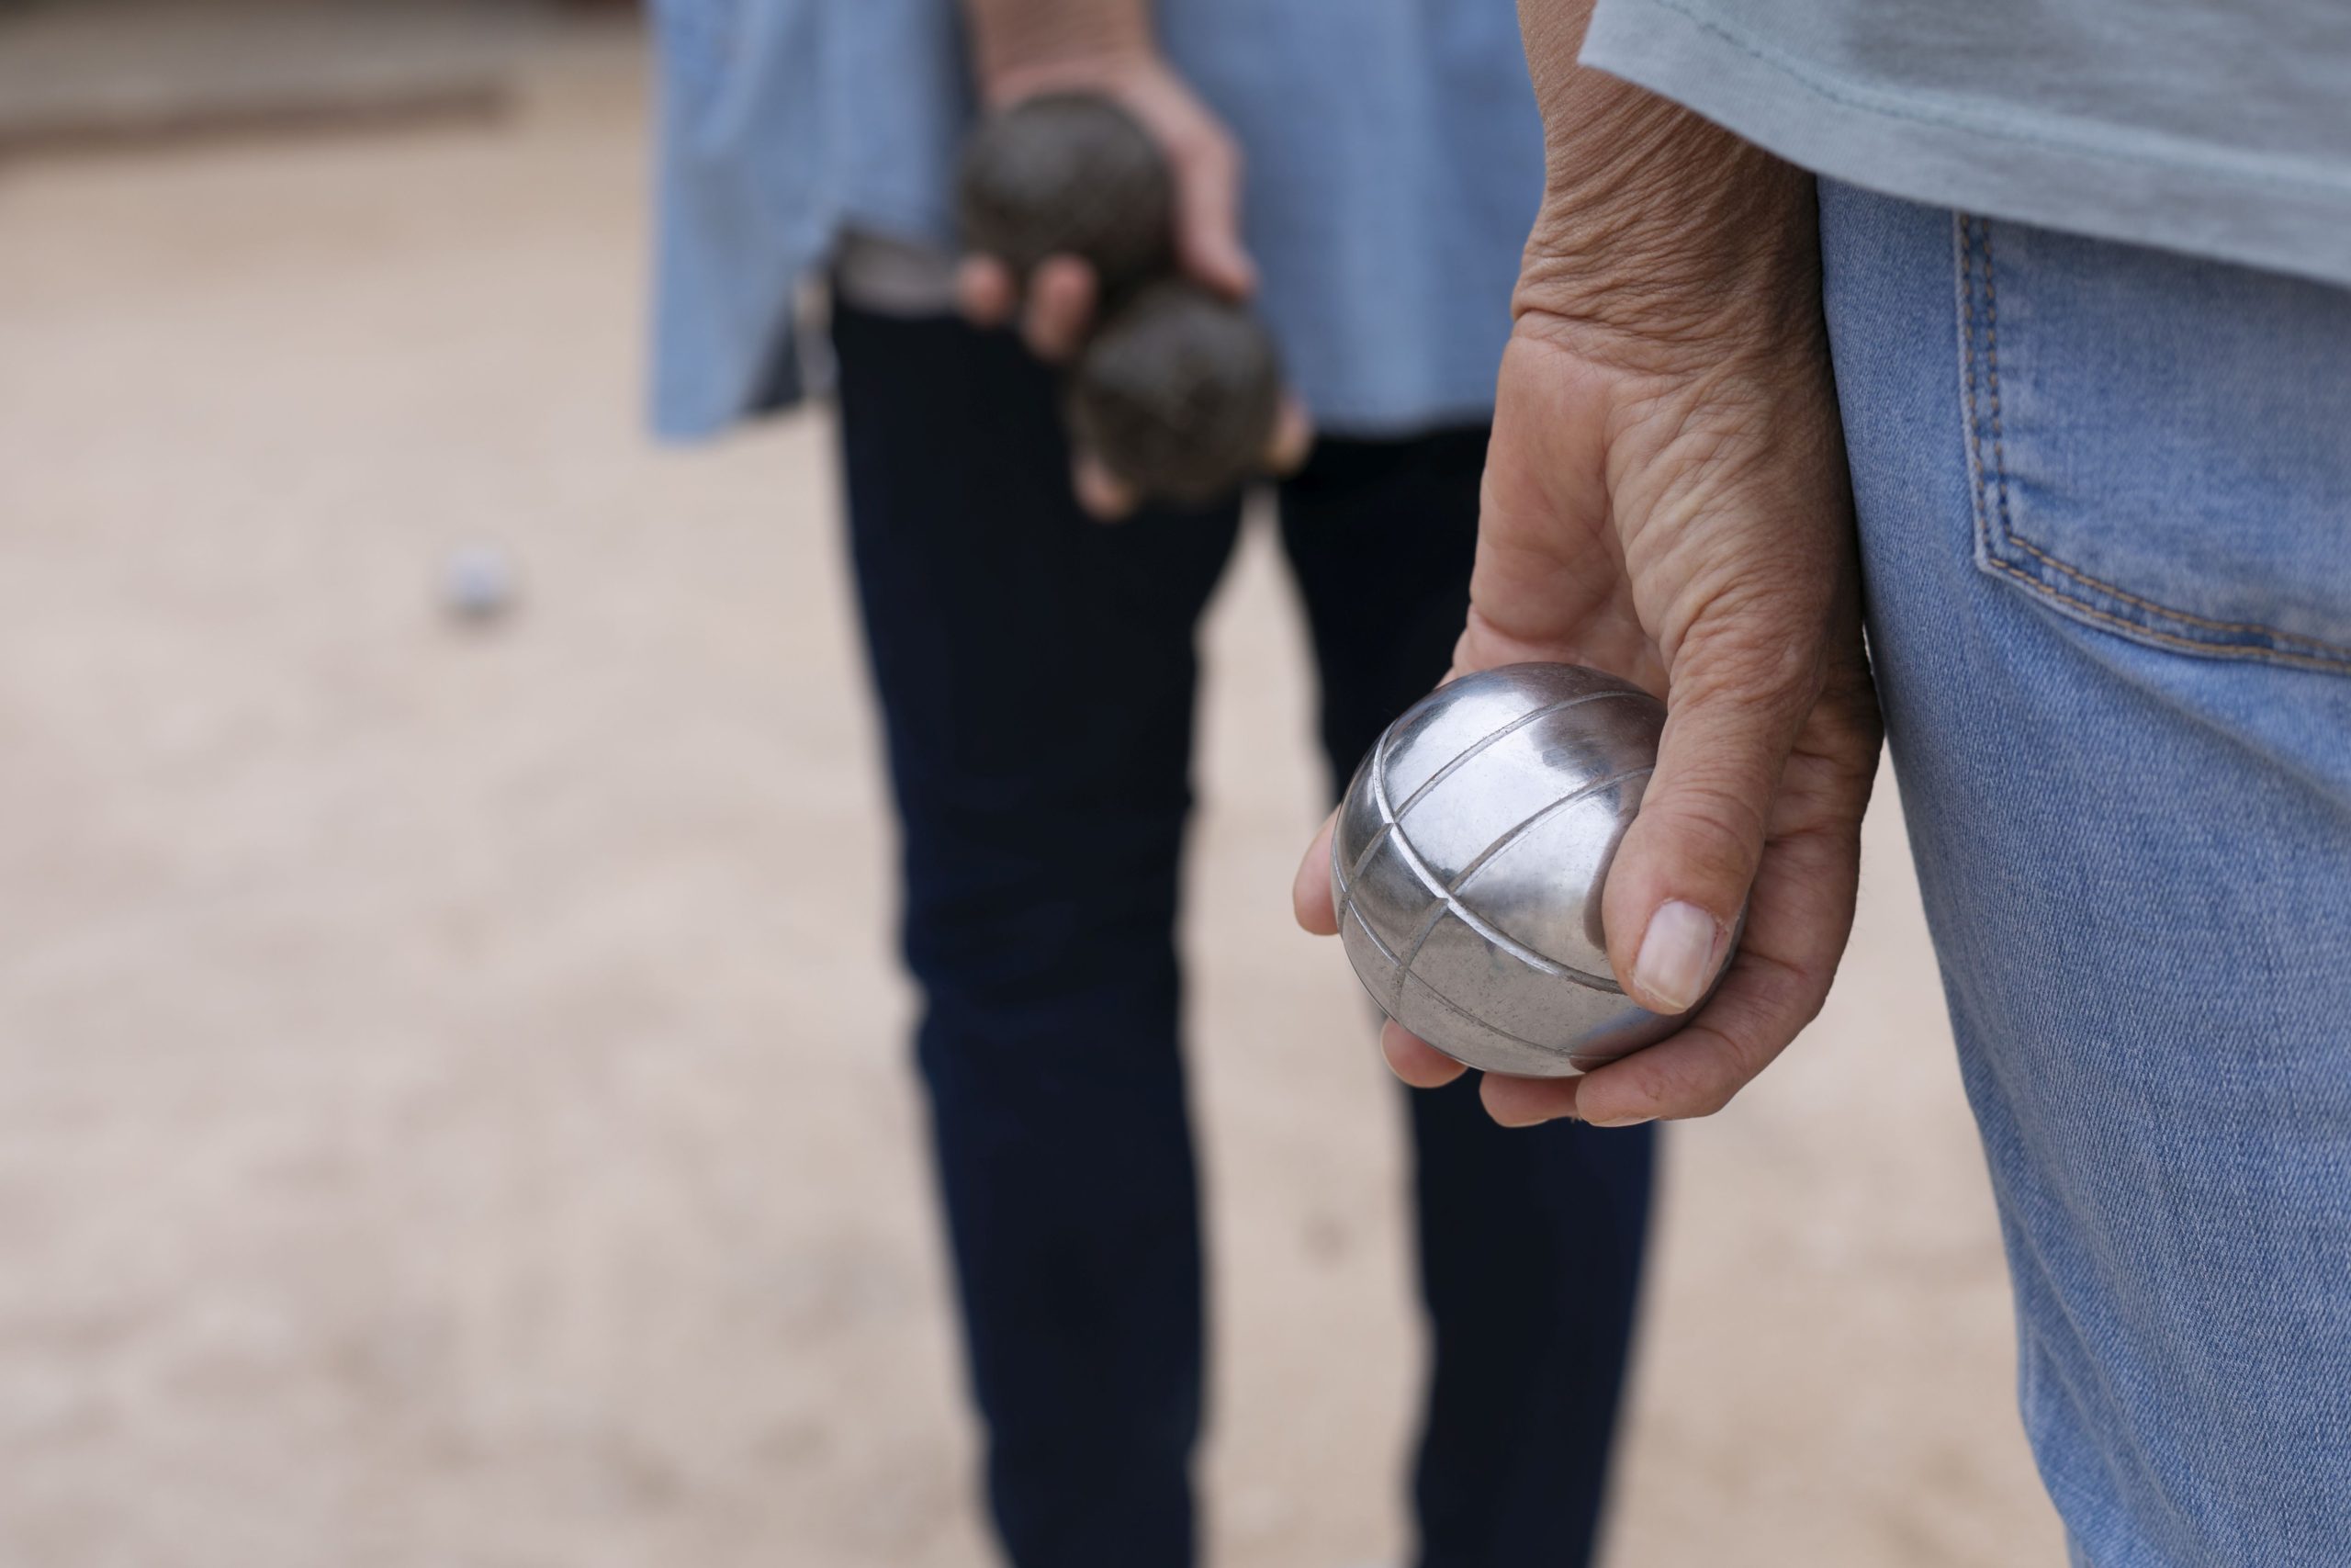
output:
[{"label": "pale beige sandy ground behind and between the two people", "polygon": [[[987,1561],[828,423],[639,440],[639,118],[607,33],[503,127],[0,169],[0,1563]],[[1396,1561],[1262,538],[1208,649],[1215,1561]],[[2057,1556],[1881,802],[1829,1013],[1672,1135],[1620,1568]]]}]

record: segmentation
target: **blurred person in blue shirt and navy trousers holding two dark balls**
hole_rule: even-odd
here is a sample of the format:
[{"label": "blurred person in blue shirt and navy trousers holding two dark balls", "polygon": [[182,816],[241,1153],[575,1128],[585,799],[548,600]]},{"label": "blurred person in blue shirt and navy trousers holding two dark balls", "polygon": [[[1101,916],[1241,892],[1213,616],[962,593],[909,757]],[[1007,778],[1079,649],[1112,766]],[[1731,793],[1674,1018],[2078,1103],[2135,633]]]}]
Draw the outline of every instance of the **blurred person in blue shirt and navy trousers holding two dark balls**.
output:
[{"label": "blurred person in blue shirt and navy trousers holding two dark balls", "polygon": [[[1277,501],[1335,792],[1444,675],[1467,607],[1542,193],[1516,16],[1509,0],[670,0],[658,19],[658,428],[708,435],[795,400],[795,292],[830,277],[917,1056],[997,1528],[1018,1568],[1185,1566],[1204,1326],[1176,898],[1194,628],[1239,498],[1117,524],[1079,508],[1056,376],[1030,348],[1072,348],[1091,282],[1039,270],[1030,348],[973,324],[1016,308],[1002,268],[964,270],[959,317],[955,158],[983,106],[1107,94],[1173,165],[1187,270],[1265,313],[1324,433]],[[1505,1133],[1467,1086],[1415,1095],[1411,1131],[1434,1352],[1420,1561],[1582,1563],[1650,1140]]]}]

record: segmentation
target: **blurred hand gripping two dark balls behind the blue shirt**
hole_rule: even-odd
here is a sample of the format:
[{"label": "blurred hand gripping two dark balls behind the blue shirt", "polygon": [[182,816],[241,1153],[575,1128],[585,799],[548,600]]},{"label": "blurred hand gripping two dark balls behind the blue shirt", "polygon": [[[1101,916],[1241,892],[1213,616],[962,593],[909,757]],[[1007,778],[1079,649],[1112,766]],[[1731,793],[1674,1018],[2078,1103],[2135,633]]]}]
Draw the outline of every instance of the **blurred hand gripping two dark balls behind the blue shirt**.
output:
[{"label": "blurred hand gripping two dark balls behind the blue shirt", "polygon": [[[1126,108],[1168,160],[1178,266],[1225,299],[1248,299],[1258,268],[1241,244],[1241,146],[1159,56],[1143,7],[1119,0],[966,5],[983,106],[994,110],[1046,92],[1093,92]],[[976,327],[1002,327],[1018,315],[1030,353],[1063,364],[1093,329],[1100,282],[1079,256],[1046,256],[1023,289],[999,256],[966,254],[957,266],[955,296]],[[1284,395],[1265,470],[1293,473],[1312,444],[1305,404]],[[1079,503],[1103,520],[1124,517],[1138,501],[1086,451],[1074,454],[1072,484]]]}]

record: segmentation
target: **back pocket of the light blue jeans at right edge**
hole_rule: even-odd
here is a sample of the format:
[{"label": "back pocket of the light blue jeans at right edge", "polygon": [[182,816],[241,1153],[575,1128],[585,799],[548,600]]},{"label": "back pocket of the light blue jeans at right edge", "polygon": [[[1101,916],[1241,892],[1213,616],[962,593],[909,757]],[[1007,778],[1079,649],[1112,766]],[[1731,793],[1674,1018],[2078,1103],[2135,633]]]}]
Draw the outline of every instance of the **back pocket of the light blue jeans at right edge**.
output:
[{"label": "back pocket of the light blue jeans at right edge", "polygon": [[2351,292],[1961,216],[1977,567],[2139,642],[2351,670]]}]

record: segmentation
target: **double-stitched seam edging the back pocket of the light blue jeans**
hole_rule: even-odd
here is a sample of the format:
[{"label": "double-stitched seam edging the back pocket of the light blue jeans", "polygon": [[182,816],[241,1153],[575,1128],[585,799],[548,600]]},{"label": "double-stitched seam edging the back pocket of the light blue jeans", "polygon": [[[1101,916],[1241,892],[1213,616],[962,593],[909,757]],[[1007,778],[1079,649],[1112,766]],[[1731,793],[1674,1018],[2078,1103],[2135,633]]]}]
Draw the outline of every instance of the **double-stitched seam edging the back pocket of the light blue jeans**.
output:
[{"label": "double-stitched seam edging the back pocket of the light blue jeans", "polygon": [[[2128,592],[2128,590],[2123,590],[2123,588],[2118,588],[2114,583],[2095,578],[2088,571],[2069,567],[2067,562],[2048,555],[2045,550],[2041,550],[2038,545],[2034,545],[2029,538],[2024,538],[2024,536],[2017,534],[2015,512],[2010,508],[2010,491],[2008,491],[2008,442],[2005,442],[2005,430],[2001,425],[2001,317],[1998,317],[1998,308],[2001,306],[1998,306],[1998,282],[1996,282],[1994,261],[1991,261],[1991,223],[1989,223],[1989,219],[1970,219],[1970,216],[1963,214],[1958,219],[1958,226],[1961,226],[1958,228],[1961,294],[1965,299],[1965,341],[1968,341],[1968,353],[1965,353],[1968,388],[1965,388],[1965,397],[1968,397],[1968,423],[1972,425],[1970,435],[1972,435],[1972,444],[1975,444],[1975,517],[1977,517],[1977,527],[1984,534],[1984,550],[1982,550],[1984,564],[1994,567],[2003,576],[2015,578],[2024,588],[2031,588],[2041,597],[2050,599],[2052,604],[2057,604],[2057,607],[2062,607],[2062,609],[2067,609],[2071,614],[2078,614],[2078,616],[2083,616],[2088,621],[2097,621],[2102,625],[2118,628],[2121,632],[2128,632],[2132,637],[2146,637],[2149,642],[2161,642],[2165,646],[2184,649],[2184,651],[2191,651],[2191,654],[2205,654],[2205,656],[2212,656],[2212,658],[2257,658],[2257,661],[2264,661],[2264,663],[2288,663],[2288,665],[2299,665],[2299,668],[2309,668],[2309,670],[2337,670],[2339,672],[2344,668],[2351,668],[2351,646],[2325,642],[2323,637],[2302,637],[2297,632],[2288,632],[2288,630],[2280,630],[2280,628],[2273,628],[2273,625],[2262,625],[2257,621],[2215,621],[2210,616],[2198,616],[2198,614],[2191,614],[2191,611],[2184,611],[2184,609],[2172,609],[2170,604],[2158,604],[2154,599],[2144,599],[2144,597],[2139,597],[2135,592]],[[1984,289],[1982,343],[1977,343],[1977,315],[1975,315],[1975,252],[1977,252],[1977,247],[1968,242],[1970,228],[1975,230],[1975,237],[1977,237],[1977,242],[1982,247],[1982,289]],[[1987,397],[1989,397],[1989,416],[1991,416],[1991,463],[1989,465],[1984,463],[1984,414],[1977,409],[1977,378],[1975,378],[1977,353],[1982,353],[1982,360],[1984,360],[1984,390],[1987,390]],[[2245,637],[2266,637],[2273,644],[2283,642],[2283,644],[2292,644],[2292,646],[2262,646],[2262,644],[2248,646],[2248,644],[2231,644],[2231,642],[2212,642],[2212,639],[2205,639],[2205,637],[2186,637],[2186,635],[2179,635],[2179,632],[2168,632],[2168,630],[2146,625],[2144,621],[2132,621],[2128,616],[2118,616],[2118,614],[2114,614],[2109,609],[2099,609],[2097,604],[2083,602],[2078,595],[2071,595],[2062,585],[2050,583],[2050,581],[2045,581],[2045,578],[2027,571],[2017,562],[2003,559],[1994,545],[2005,545],[2010,550],[2022,550],[2024,555],[2034,557],[2036,562],[2041,562],[2050,571],[2059,571],[2059,574],[2074,578],[2076,583],[2081,583],[2083,588],[2088,588],[2092,592],[2099,592],[2099,595],[2106,595],[2106,597],[2111,597],[2111,599],[2116,599],[2121,604],[2130,604],[2130,607],[2135,607],[2135,609],[2139,609],[2139,611],[2144,611],[2149,616],[2163,616],[2165,621],[2175,621],[2175,623],[2182,623],[2182,625],[2201,625],[2201,628],[2210,628],[2215,632],[2236,632],[2236,635],[2245,635]],[[2304,649],[2309,649],[2309,651],[2304,651]]]}]

